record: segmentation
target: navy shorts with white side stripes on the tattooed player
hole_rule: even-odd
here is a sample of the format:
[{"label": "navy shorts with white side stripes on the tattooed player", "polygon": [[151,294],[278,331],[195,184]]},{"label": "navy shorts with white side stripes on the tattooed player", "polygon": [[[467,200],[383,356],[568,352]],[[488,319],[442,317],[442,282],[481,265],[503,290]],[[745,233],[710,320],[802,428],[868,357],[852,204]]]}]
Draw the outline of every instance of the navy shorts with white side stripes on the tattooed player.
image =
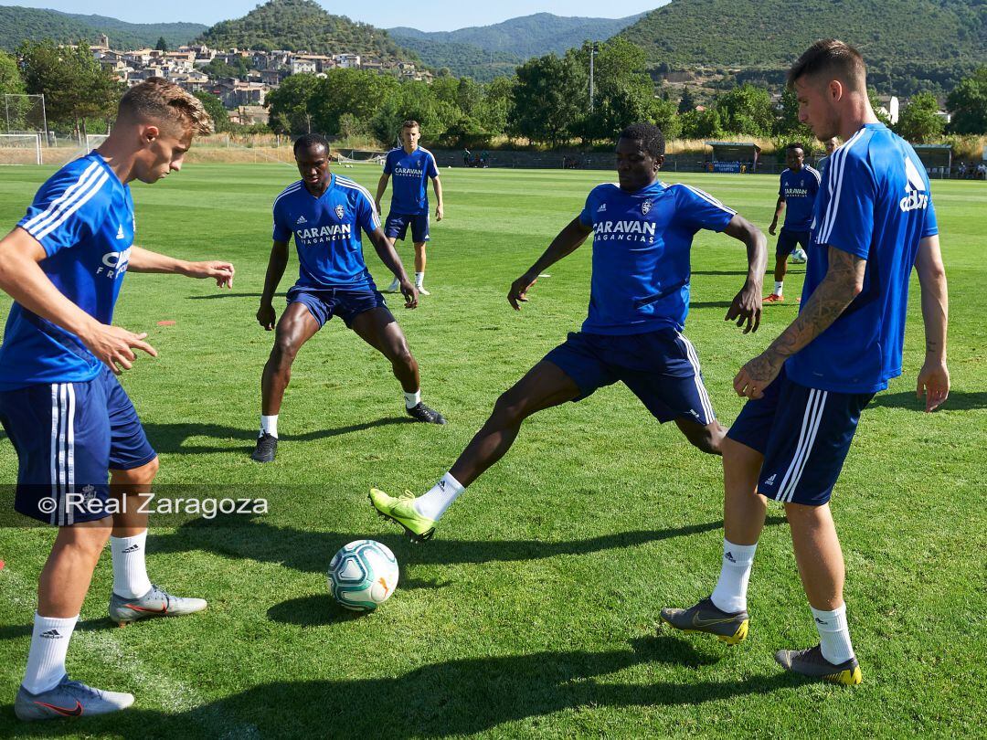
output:
[{"label": "navy shorts with white side stripes on the tattooed player", "polygon": [[748,401],[726,436],[764,455],[757,490],[786,503],[821,506],[840,477],[861,411],[873,393],[806,388],[781,375]]}]

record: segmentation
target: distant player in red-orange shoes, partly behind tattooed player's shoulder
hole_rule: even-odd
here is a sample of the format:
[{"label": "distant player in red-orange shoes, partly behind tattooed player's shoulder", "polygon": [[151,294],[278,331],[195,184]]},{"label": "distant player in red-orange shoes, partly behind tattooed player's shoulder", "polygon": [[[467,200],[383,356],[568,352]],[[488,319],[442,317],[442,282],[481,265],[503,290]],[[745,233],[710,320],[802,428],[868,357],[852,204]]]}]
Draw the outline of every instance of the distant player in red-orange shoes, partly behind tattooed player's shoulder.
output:
[{"label": "distant player in red-orange shoes, partly behind tattooed player's shoulder", "polygon": [[775,247],[775,289],[764,299],[765,303],[781,303],[785,286],[785,273],[788,271],[789,255],[792,261],[804,262],[803,249],[808,247],[808,232],[812,225],[812,208],[815,195],[819,191],[819,173],[805,164],[805,149],[801,144],[789,144],[785,150],[785,163],[781,184],[778,187],[778,202],[775,203],[775,217],[771,220],[768,233],[775,236],[778,217],[785,211],[785,225],[778,235]]}]

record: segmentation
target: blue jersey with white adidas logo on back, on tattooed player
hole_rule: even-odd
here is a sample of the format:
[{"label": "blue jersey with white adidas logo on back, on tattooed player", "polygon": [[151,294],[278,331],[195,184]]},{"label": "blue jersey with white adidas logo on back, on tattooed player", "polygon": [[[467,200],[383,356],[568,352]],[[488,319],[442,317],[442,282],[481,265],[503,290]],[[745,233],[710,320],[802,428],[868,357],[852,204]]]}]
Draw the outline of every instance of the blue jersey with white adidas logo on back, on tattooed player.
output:
[{"label": "blue jersey with white adidas logo on back, on tattooed player", "polygon": [[863,292],[789,359],[796,383],[875,393],[901,374],[908,280],[919,241],[939,233],[929,179],[911,145],[868,123],[830,157],[816,201],[802,302],[822,282],[828,248],[867,259]]}]

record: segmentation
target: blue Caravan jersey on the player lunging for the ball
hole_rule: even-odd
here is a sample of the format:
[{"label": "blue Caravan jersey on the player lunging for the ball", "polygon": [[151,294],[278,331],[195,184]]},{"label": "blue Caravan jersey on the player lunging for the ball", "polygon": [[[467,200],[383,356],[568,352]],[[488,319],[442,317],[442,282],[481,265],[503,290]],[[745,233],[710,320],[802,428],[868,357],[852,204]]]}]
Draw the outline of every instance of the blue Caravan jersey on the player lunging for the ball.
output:
[{"label": "blue Caravan jersey on the player lunging for the ball", "polygon": [[722,231],[735,211],[690,185],[635,192],[594,187],[579,214],[593,229],[593,276],[585,333],[636,334],[673,327],[689,313],[689,253],[700,229]]}]

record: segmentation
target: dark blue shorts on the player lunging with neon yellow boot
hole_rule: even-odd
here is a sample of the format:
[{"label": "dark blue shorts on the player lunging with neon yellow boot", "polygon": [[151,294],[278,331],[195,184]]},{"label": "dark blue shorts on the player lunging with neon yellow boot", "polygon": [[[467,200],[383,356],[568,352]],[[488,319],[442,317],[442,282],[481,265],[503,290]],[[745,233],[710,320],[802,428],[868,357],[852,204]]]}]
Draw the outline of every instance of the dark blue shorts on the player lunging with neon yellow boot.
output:
[{"label": "dark blue shorts on the player lunging with neon yellow boot", "polygon": [[625,336],[571,332],[545,359],[579,387],[573,402],[620,380],[661,423],[689,418],[706,426],[717,418],[696,348],[674,329]]}]

